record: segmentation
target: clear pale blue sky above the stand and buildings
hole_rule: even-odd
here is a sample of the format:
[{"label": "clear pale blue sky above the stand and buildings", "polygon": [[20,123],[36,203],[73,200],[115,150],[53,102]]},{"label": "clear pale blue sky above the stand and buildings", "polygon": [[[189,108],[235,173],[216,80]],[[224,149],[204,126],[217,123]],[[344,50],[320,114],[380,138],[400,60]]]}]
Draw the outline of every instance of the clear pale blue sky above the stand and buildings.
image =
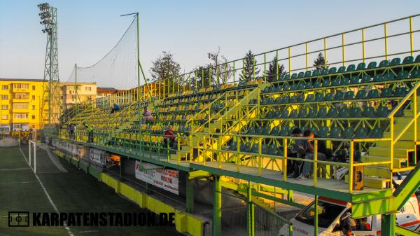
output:
[{"label": "clear pale blue sky above the stand and buildings", "polygon": [[[0,0],[0,78],[43,78],[45,34],[37,4]],[[419,13],[420,1],[80,1],[52,0],[58,11],[59,76],[89,67],[140,13],[140,59],[149,75],[162,50],[186,71],[221,47],[228,60]]]}]

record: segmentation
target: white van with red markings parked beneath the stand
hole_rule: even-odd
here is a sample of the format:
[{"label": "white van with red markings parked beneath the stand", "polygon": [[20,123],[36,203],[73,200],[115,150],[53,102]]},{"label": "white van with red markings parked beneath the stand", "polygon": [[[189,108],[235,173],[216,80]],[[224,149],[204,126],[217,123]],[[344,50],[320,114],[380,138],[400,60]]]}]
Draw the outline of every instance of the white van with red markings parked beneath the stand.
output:
[{"label": "white van with red markings parked beneath the stand", "polygon": [[[293,236],[314,235],[314,204],[311,202],[302,209],[291,221],[293,224]],[[340,200],[326,197],[318,197],[318,235],[339,236],[343,235],[342,225],[344,220],[351,214],[351,204]],[[350,216],[351,217],[351,216]],[[381,215],[357,218],[354,235],[380,235]],[[420,204],[416,195],[409,198],[401,211],[396,215],[397,224],[409,230],[416,230],[420,225]],[[280,232],[287,232],[281,229]]]}]

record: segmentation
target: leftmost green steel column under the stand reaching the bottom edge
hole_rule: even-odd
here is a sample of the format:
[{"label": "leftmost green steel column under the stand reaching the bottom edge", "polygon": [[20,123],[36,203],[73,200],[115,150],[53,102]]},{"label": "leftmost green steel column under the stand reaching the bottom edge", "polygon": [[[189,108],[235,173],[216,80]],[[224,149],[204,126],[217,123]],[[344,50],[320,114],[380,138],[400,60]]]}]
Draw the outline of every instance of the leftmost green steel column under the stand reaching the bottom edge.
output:
[{"label": "leftmost green steel column under the stand reaching the bottom edge", "polygon": [[222,235],[222,184],[220,176],[214,176],[213,235]]}]

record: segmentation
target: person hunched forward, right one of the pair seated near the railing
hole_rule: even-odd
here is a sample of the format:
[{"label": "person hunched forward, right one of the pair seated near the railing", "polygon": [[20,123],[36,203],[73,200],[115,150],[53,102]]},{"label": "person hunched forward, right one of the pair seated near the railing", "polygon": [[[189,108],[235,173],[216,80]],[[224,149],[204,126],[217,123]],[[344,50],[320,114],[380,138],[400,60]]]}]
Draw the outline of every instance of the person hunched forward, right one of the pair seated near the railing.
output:
[{"label": "person hunched forward, right one of the pair seated near the railing", "polygon": [[[305,130],[303,132],[304,137],[309,138],[317,138],[318,136],[315,135],[311,130]],[[306,147],[307,147],[307,154],[304,155],[304,159],[314,160],[314,140],[308,139],[306,141]],[[327,159],[327,146],[325,145],[325,141],[318,140],[318,158],[317,160],[326,160]],[[309,174],[311,173],[311,169],[313,169],[313,162],[304,162],[302,174],[298,176],[296,179],[308,179]]]}]

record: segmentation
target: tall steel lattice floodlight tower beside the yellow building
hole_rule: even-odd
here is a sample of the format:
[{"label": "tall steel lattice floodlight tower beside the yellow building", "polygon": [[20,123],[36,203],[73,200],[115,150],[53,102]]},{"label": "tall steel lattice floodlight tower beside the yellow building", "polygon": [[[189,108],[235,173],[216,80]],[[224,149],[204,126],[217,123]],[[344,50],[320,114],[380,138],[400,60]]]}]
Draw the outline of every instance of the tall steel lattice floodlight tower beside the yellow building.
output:
[{"label": "tall steel lattice floodlight tower beside the yellow building", "polygon": [[57,123],[61,113],[61,99],[58,77],[58,44],[57,44],[57,8],[48,3],[38,4],[43,25],[42,32],[47,34],[47,46],[45,49],[45,67],[43,97],[41,105],[41,127],[45,120],[48,124]]}]

